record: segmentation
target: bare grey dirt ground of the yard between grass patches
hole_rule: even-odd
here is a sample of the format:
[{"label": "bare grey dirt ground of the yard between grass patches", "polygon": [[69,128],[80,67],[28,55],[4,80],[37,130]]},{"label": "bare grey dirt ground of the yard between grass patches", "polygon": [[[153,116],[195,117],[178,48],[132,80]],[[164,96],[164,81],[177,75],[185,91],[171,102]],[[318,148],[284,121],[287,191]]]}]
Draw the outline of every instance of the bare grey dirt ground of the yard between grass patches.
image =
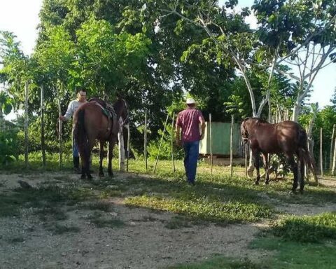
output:
[{"label": "bare grey dirt ground of the yard between grass patches", "polygon": [[[56,176],[59,177],[59,173],[0,174],[0,195],[18,188],[19,179],[37,186],[42,181],[55,180]],[[70,177],[69,173],[67,176]],[[71,177],[76,179],[78,175]],[[247,247],[260,227],[267,223],[169,229],[165,224],[176,216],[174,214],[130,208],[123,204],[123,199],[109,202],[113,210],[106,214],[122,220],[123,228],[97,228],[87,220],[90,212],[86,209],[66,212],[63,224],[80,230],[62,235],[45,229],[43,222],[31,214],[32,209],[25,209],[20,218],[0,218],[0,268],[165,268],[176,263],[203,261],[216,254],[251,260],[270,255],[267,251]],[[288,213],[317,214],[335,209],[335,205],[301,205],[296,212],[291,209]],[[13,242],[13,238],[23,240]]]}]

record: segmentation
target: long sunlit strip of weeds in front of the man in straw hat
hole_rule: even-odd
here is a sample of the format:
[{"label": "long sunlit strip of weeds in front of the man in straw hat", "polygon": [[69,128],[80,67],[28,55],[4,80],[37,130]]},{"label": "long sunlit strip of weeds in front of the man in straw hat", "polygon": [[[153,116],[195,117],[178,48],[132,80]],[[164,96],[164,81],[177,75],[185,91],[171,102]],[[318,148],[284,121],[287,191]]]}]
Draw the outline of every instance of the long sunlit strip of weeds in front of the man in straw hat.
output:
[{"label": "long sunlit strip of weeds in front of the man in straw hat", "polygon": [[269,218],[272,210],[265,205],[243,202],[221,202],[209,199],[190,197],[162,198],[158,196],[130,197],[125,199],[126,205],[147,207],[162,211],[184,214],[195,219],[214,221],[221,225],[225,223],[247,223]]}]

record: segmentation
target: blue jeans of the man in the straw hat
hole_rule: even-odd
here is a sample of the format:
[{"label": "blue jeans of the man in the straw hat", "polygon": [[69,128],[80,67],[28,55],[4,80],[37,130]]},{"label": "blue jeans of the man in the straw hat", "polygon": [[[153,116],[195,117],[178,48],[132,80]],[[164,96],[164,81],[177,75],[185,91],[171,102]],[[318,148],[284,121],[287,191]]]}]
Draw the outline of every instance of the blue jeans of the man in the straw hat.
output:
[{"label": "blue jeans of the man in the straw hat", "polygon": [[184,167],[186,168],[188,182],[195,183],[200,141],[183,142],[183,148],[186,153],[184,157]]}]

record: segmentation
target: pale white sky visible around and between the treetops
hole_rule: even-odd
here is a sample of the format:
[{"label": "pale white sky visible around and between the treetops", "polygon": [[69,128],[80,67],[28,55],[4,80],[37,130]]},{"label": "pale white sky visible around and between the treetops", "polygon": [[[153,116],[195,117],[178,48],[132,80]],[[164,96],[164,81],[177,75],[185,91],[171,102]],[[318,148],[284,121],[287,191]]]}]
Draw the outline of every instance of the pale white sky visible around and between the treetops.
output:
[{"label": "pale white sky visible around and between the treetops", "polygon": [[[219,0],[223,5],[225,0]],[[253,0],[239,0],[239,6],[250,6]],[[38,13],[42,0],[0,0],[0,30],[13,32],[20,41],[22,51],[30,55],[37,39]],[[255,18],[251,16],[248,22],[255,25]],[[330,104],[330,99],[336,87],[336,64],[323,69],[313,83],[314,92],[309,102],[318,102],[320,107]]]}]

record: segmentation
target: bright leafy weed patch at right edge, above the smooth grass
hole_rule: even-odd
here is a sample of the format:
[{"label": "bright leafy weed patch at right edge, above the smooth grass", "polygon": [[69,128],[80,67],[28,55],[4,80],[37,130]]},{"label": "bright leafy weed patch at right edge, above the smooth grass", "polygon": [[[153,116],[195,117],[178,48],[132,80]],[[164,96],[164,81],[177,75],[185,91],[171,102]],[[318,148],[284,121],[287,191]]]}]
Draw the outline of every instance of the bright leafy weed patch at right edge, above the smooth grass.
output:
[{"label": "bright leafy weed patch at right edge, above the smooth grass", "polygon": [[336,240],[336,212],[316,216],[290,216],[271,223],[269,233],[295,242]]}]

